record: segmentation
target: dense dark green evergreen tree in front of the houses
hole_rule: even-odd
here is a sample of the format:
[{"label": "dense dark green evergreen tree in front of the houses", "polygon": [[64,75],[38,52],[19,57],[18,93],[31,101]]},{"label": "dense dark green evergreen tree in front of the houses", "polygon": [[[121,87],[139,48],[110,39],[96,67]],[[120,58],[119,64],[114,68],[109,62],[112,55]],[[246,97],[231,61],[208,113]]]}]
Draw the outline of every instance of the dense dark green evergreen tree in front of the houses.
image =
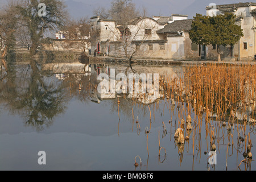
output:
[{"label": "dense dark green evergreen tree in front of the houses", "polygon": [[221,61],[220,46],[233,46],[242,36],[243,30],[236,24],[236,15],[232,13],[216,16],[196,14],[189,32],[193,43],[217,45],[218,61]]}]

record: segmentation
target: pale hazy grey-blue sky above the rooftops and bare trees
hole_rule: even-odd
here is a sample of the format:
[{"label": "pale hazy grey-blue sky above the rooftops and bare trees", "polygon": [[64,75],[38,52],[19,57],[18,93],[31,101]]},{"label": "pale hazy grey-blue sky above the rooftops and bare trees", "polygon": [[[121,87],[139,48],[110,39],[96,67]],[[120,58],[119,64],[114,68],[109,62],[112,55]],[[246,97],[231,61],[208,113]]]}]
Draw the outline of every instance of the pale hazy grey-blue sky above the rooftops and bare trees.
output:
[{"label": "pale hazy grey-blue sky above the rooftops and bare trees", "polygon": [[[0,7],[9,0],[0,0]],[[39,0],[40,1],[40,0]],[[98,7],[108,9],[112,0],[64,0],[71,18],[81,18],[84,16],[93,16],[93,10]],[[133,0],[138,9],[145,7],[148,10],[148,16],[162,15],[170,16],[171,14],[187,14],[193,18],[196,13],[205,14],[205,7],[210,3],[217,5],[239,3],[239,2],[256,2],[256,1],[230,1],[230,0]]]}]

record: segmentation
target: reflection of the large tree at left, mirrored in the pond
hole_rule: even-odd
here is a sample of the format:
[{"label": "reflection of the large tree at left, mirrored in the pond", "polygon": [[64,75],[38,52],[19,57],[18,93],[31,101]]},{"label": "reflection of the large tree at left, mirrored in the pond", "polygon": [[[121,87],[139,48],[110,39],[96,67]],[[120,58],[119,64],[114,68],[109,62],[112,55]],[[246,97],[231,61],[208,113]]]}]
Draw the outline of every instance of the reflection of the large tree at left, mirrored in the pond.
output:
[{"label": "reflection of the large tree at left, mirrored in the pond", "polygon": [[24,92],[22,99],[17,103],[18,108],[23,108],[26,118],[26,125],[43,130],[43,126],[52,125],[52,119],[57,114],[63,113],[67,102],[64,90],[60,85],[47,82],[40,75],[35,62],[31,63],[31,80],[28,83],[27,92]]}]

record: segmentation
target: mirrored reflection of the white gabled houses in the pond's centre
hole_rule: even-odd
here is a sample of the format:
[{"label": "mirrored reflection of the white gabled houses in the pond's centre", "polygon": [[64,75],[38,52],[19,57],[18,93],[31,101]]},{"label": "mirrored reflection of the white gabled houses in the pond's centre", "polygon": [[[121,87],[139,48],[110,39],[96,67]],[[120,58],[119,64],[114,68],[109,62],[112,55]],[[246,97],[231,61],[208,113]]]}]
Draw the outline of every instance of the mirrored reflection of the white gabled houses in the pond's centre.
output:
[{"label": "mirrored reflection of the white gabled houses in the pond's centre", "polygon": [[[177,67],[177,71],[174,71],[172,68],[166,68],[166,67],[144,67],[142,65],[134,65],[133,66],[133,71],[131,71],[130,69],[130,65],[107,65],[107,64],[94,64],[94,71],[96,71],[96,77],[98,77],[98,75],[100,75],[101,73],[105,73],[106,75],[108,75],[109,77],[109,88],[101,88],[104,90],[104,93],[100,94],[97,92],[97,90],[94,90],[94,97],[97,97],[99,100],[108,100],[108,99],[115,99],[116,97],[122,95],[125,92],[122,92],[121,94],[117,94],[115,93],[110,93],[110,90],[115,88],[110,88],[111,86],[111,77],[110,77],[110,72],[111,69],[114,69],[115,72],[115,76],[117,76],[117,74],[119,73],[124,73],[127,78],[128,78],[128,74],[129,73],[134,73],[133,71],[136,71],[136,73],[138,73],[138,75],[141,75],[142,73],[145,73],[146,75],[148,73],[151,73],[152,75],[154,75],[154,73],[158,73],[159,74],[159,78],[177,78],[180,73],[183,72],[182,68]],[[96,78],[97,80],[97,78]],[[154,80],[154,79],[152,79]],[[97,85],[100,84],[101,80],[97,80]],[[115,86],[117,85],[117,83],[119,82],[119,80],[115,80]],[[126,90],[126,98],[128,100],[136,100],[137,102],[143,104],[143,105],[150,105],[153,104],[156,100],[159,100],[161,98],[164,97],[163,94],[163,87],[159,86],[158,90],[154,90],[154,93],[156,93],[156,91],[158,92],[157,95],[155,95],[154,93],[150,94],[148,92],[146,93],[136,93],[136,94],[131,94],[129,92],[129,84],[126,82],[127,88]],[[153,84],[154,85],[154,84]],[[123,86],[123,85],[122,85]],[[123,88],[122,88],[123,89]],[[148,90],[148,88],[146,88]],[[151,89],[154,89],[154,86],[152,86]],[[122,90],[122,91],[125,91]],[[142,83],[139,84],[139,90],[142,90]],[[134,91],[134,90],[133,90]],[[109,93],[107,93],[109,92]],[[107,93],[107,94],[106,94]]]}]

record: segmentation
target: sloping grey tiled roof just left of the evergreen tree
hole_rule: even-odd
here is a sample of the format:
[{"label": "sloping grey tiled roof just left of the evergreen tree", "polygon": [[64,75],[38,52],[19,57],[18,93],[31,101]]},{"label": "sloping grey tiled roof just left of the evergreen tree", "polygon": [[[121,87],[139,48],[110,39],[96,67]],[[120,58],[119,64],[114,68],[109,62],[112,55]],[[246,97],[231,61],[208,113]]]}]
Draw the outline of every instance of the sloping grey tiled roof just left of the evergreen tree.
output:
[{"label": "sloping grey tiled roof just left of the evergreen tree", "polygon": [[193,19],[176,20],[157,31],[158,34],[191,30]]}]

